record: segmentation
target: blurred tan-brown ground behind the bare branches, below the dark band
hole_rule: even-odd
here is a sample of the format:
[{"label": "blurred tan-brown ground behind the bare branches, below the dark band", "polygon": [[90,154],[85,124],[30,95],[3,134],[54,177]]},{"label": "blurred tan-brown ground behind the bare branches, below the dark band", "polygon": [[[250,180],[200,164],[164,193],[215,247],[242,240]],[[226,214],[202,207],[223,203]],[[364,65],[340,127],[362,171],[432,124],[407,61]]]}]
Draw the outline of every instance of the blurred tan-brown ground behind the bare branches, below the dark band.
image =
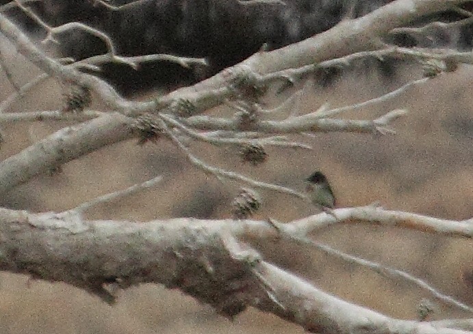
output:
[{"label": "blurred tan-brown ground behind the bare branches, below the dark band", "polygon": [[[8,56],[16,58],[10,69],[17,83],[24,84],[34,77],[36,70],[25,66],[23,59],[12,51],[4,55]],[[306,89],[300,112],[314,111],[325,102],[331,107],[361,102],[421,77],[419,66],[398,68],[392,78],[369,68],[349,71],[329,87],[314,85]],[[320,133],[298,137],[314,150],[270,148],[268,162],[258,167],[242,165],[233,148],[201,144],[192,144],[191,148],[207,163],[298,190],[303,189],[303,178],[314,169],[321,169],[331,180],[339,206],[379,201],[394,210],[468,219],[473,217],[472,83],[472,66],[461,66],[457,72],[442,74],[389,102],[343,115],[373,119],[391,109],[407,108],[409,114],[392,124],[396,135]],[[4,100],[13,89],[3,73],[0,84],[0,98]],[[60,85],[47,81],[12,105],[10,112],[57,109],[62,105],[60,92]],[[267,107],[278,105],[292,92],[266,98]],[[151,93],[136,98],[149,96]],[[5,159],[66,125],[5,125],[0,158]],[[222,184],[191,167],[168,141],[144,146],[137,146],[136,142],[118,143],[64,165],[62,173],[40,176],[18,186],[0,198],[0,206],[34,212],[66,210],[162,175],[164,180],[155,189],[95,208],[88,217],[137,221],[230,217],[230,204],[238,184]],[[316,213],[314,208],[292,197],[267,191],[261,191],[261,195],[264,207],[256,216],[259,219],[291,221]],[[473,305],[472,240],[370,225],[334,226],[314,238],[342,251],[406,270]],[[422,298],[431,298],[405,281],[385,279],[366,268],[298,245],[272,242],[255,247],[267,260],[298,273],[327,292],[389,316],[414,319]],[[303,333],[298,326],[254,309],[230,322],[206,305],[162,286],[146,285],[122,292],[118,304],[110,307],[62,283],[31,281],[9,273],[1,273],[0,280],[1,333]],[[433,318],[471,318],[471,314],[449,305],[436,305]]]}]

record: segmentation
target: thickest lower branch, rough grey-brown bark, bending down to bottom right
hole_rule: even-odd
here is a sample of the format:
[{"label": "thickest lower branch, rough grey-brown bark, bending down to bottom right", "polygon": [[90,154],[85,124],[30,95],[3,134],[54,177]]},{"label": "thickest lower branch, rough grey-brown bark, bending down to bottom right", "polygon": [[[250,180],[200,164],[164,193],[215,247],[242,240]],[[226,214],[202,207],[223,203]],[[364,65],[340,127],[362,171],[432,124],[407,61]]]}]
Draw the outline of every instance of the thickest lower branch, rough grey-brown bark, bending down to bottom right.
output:
[{"label": "thickest lower branch, rough grey-brown bark, bending down to bottom right", "polygon": [[[335,212],[346,217],[362,210],[366,208]],[[389,215],[377,210],[379,216]],[[256,226],[257,234],[248,229]],[[0,270],[69,283],[108,303],[115,301],[109,291],[114,288],[162,283],[212,305],[223,316],[253,306],[313,333],[472,333],[455,329],[454,323],[433,326],[383,316],[265,262],[235,239],[247,234],[274,238],[277,229],[264,221],[83,221],[71,212],[0,209],[0,234]]]}]

